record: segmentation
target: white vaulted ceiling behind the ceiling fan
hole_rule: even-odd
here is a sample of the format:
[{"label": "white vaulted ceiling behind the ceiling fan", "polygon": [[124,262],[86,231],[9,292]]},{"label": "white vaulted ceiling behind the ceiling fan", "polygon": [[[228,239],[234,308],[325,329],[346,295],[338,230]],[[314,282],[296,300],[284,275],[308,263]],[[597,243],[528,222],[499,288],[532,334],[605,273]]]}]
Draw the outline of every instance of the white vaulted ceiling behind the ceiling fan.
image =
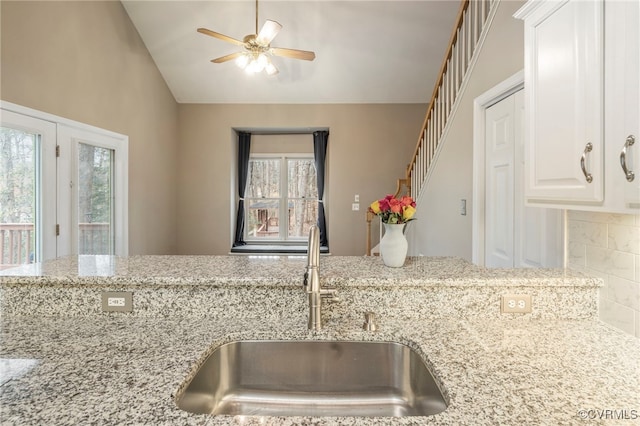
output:
[{"label": "white vaulted ceiling behind the ceiling fan", "polygon": [[240,46],[196,32],[242,40],[255,32],[255,2],[122,1],[180,103],[427,103],[458,0],[262,0],[282,30],[274,47],[312,50],[313,62],[274,57],[280,73],[247,75],[211,59]]}]

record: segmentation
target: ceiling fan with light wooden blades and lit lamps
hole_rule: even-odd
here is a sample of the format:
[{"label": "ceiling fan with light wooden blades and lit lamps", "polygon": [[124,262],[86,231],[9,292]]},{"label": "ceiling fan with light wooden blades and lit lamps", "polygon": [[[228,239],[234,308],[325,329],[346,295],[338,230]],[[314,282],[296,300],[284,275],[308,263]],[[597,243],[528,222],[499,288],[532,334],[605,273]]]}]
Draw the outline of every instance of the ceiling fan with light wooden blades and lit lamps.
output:
[{"label": "ceiling fan with light wooden blades and lit lamps", "polygon": [[211,37],[233,43],[244,47],[244,51],[231,53],[212,59],[211,62],[220,64],[235,59],[236,64],[249,73],[259,73],[265,71],[269,75],[278,73],[278,68],[271,62],[271,55],[283,56],[285,58],[303,59],[313,61],[316,57],[314,52],[308,50],[287,49],[283,47],[271,47],[271,41],[282,29],[282,25],[276,21],[267,20],[260,32],[258,32],[258,0],[256,0],[256,32],[244,36],[242,41],[206,28],[198,28],[198,32]]}]

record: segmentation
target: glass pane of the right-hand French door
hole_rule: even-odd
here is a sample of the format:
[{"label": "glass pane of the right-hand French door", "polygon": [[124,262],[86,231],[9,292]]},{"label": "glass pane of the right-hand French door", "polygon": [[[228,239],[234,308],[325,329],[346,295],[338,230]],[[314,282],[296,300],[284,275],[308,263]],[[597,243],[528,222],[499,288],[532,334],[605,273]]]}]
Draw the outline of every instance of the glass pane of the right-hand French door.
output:
[{"label": "glass pane of the right-hand French door", "polygon": [[114,151],[78,143],[78,254],[115,254]]}]

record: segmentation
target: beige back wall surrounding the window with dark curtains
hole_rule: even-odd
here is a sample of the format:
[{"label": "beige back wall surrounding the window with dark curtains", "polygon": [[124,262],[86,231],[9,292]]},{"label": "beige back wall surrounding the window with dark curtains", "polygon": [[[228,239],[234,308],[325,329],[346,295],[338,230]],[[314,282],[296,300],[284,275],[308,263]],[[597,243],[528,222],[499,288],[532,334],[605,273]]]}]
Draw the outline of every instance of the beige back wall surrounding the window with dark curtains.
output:
[{"label": "beige back wall surrounding the window with dark curtains", "polygon": [[[180,105],[178,251],[229,251],[234,215],[234,127],[328,127],[329,246],[363,255],[365,211],[395,191],[415,148],[425,105]],[[311,137],[311,136],[309,136]],[[360,195],[360,211],[351,211]]]}]

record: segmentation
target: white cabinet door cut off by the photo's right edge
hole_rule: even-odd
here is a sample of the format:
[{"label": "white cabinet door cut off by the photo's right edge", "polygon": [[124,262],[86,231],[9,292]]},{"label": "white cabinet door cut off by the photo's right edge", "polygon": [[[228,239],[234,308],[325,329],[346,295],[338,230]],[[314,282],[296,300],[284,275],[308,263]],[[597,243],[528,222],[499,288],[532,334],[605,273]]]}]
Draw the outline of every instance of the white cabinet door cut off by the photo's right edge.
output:
[{"label": "white cabinet door cut off by the photo's right edge", "polygon": [[[612,1],[606,8],[607,168],[622,208],[640,203],[640,2]],[[609,149],[610,148],[610,149]],[[607,197],[609,195],[607,194]]]}]

